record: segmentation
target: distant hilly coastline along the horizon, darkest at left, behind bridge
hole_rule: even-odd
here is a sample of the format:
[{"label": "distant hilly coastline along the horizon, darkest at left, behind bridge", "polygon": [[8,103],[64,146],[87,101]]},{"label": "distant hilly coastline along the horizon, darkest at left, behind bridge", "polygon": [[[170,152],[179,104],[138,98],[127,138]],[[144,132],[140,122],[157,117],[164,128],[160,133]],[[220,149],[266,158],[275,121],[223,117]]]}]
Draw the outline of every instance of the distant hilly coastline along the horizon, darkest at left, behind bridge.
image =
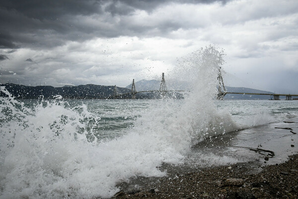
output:
[{"label": "distant hilly coastline along the horizon, darkest at left, behind bridge", "polygon": [[[142,80],[136,83],[137,91],[157,90],[157,81]],[[0,84],[13,96],[15,99],[55,99],[56,96],[61,96],[64,99],[107,99],[114,96],[115,86],[102,86],[102,85],[79,85],[79,86],[64,86],[64,87],[52,87],[52,86],[24,86],[19,84]],[[129,89],[131,85],[126,88],[116,87],[117,95],[130,93]],[[154,88],[154,89],[152,89]],[[264,93],[265,91],[240,88],[240,87],[226,87],[228,92],[241,91],[244,93]],[[271,92],[267,92],[271,93]],[[273,94],[273,93],[271,93]],[[0,92],[0,96],[5,94]],[[182,95],[181,95],[182,96]],[[182,97],[178,99],[182,99]],[[138,93],[136,99],[158,99],[159,96],[150,93]],[[270,100],[270,96],[261,95],[239,95],[239,94],[227,94],[224,99],[226,100]]]}]

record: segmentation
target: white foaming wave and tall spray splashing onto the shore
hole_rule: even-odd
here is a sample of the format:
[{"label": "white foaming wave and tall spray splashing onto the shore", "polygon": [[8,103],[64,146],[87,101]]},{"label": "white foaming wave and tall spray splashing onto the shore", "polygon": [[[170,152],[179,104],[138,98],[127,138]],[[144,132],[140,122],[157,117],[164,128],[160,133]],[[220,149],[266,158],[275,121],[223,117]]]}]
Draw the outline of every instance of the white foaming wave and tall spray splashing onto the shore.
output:
[{"label": "white foaming wave and tall spray splashing onto the shore", "polygon": [[109,198],[117,183],[165,175],[161,163],[183,163],[199,140],[237,128],[213,104],[222,56],[211,46],[186,58],[179,67],[194,86],[184,103],[160,100],[110,141],[96,141],[90,123],[101,115],[85,104],[71,108],[57,98],[28,109],[1,98],[0,198]]}]

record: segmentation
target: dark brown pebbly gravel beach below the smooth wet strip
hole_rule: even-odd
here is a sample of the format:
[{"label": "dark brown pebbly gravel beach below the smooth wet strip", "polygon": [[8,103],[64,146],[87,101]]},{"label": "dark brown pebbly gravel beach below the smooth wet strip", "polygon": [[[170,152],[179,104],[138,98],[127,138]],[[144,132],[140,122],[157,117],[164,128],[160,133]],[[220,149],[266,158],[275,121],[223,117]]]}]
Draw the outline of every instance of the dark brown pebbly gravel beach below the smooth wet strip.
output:
[{"label": "dark brown pebbly gravel beach below the smooth wet strip", "polygon": [[[123,184],[116,199],[296,199],[298,155],[276,165],[255,164],[172,172],[163,178],[139,178]],[[139,183],[136,183],[138,181]],[[142,182],[142,185],[140,185]],[[138,186],[137,186],[138,184]]]}]

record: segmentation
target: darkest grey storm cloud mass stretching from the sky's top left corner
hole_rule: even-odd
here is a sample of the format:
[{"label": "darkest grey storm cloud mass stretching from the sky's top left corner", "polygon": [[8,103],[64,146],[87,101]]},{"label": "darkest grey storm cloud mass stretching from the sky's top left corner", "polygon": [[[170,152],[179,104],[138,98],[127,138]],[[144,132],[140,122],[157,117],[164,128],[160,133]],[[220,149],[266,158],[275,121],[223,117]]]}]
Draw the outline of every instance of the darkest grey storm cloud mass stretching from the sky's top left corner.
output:
[{"label": "darkest grey storm cloud mass stretching from the sky's top left corner", "polygon": [[[94,37],[142,35],[150,26],[130,26],[121,16],[136,9],[152,11],[167,3],[213,3],[217,0],[1,0],[0,48],[51,48],[66,41]],[[226,0],[221,0],[225,3]],[[120,16],[116,23],[115,15]],[[92,18],[97,16],[97,18]],[[111,17],[112,16],[112,17]],[[88,20],[93,20],[88,22]],[[95,22],[96,24],[94,24]],[[177,24],[162,24],[159,33],[176,30]],[[5,32],[3,32],[5,30]]]}]

